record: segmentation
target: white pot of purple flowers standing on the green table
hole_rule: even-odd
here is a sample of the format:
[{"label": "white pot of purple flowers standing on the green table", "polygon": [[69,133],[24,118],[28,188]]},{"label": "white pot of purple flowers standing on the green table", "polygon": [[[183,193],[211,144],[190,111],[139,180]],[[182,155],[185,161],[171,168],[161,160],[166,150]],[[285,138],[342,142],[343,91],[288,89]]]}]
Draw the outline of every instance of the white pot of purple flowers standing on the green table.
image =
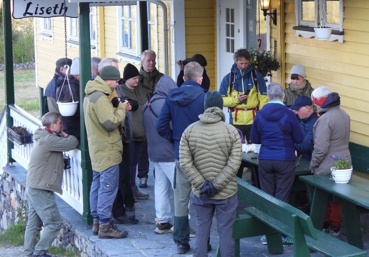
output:
[{"label": "white pot of purple flowers standing on the green table", "polygon": [[332,165],[332,179],[338,184],[348,183],[353,170],[352,164],[348,162],[348,157],[332,155],[328,157],[328,161]]}]

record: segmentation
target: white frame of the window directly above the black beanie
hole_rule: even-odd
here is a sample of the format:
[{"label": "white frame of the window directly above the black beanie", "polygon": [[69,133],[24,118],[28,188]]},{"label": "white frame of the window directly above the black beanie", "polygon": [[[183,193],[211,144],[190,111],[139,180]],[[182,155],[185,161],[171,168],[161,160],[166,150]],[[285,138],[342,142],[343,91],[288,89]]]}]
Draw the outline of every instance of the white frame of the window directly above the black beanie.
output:
[{"label": "white frame of the window directly above the black beanie", "polygon": [[[122,5],[122,6],[118,6],[118,33],[117,35],[119,36],[118,38],[118,51],[119,53],[124,53],[124,54],[128,54],[128,55],[133,55],[136,57],[140,56],[141,53],[141,39],[139,37],[140,35],[140,26],[139,26],[139,5],[136,2],[136,17],[132,18],[129,16],[123,16],[123,8],[125,6],[128,6],[129,9],[131,8],[131,5]],[[136,27],[136,49],[129,47],[125,47],[124,46],[124,42],[123,42],[123,35],[122,35],[122,27],[124,25],[123,20],[128,20],[128,22],[135,22],[135,27]],[[131,38],[131,33],[129,32],[129,39]]]}]

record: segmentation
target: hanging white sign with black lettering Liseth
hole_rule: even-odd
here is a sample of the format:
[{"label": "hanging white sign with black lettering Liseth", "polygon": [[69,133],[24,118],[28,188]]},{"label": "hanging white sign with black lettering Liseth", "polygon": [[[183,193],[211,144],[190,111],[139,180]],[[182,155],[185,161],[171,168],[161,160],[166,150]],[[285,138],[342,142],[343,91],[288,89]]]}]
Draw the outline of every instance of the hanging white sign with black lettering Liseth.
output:
[{"label": "hanging white sign with black lettering Liseth", "polygon": [[64,0],[13,0],[13,18],[27,17],[78,17],[78,4]]}]

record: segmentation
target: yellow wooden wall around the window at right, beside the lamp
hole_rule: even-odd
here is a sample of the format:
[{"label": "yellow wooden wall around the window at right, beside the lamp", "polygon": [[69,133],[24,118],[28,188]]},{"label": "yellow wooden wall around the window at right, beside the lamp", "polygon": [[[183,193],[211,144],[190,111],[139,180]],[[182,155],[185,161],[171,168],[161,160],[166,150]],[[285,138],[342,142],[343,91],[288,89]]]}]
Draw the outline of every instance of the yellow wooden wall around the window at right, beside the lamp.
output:
[{"label": "yellow wooden wall around the window at right, beside the lamp", "polygon": [[305,66],[313,88],[326,85],[339,93],[341,108],[351,117],[350,141],[369,146],[369,1],[344,1],[343,44],[296,37],[295,1],[283,5],[285,82],[291,81],[293,65]]}]

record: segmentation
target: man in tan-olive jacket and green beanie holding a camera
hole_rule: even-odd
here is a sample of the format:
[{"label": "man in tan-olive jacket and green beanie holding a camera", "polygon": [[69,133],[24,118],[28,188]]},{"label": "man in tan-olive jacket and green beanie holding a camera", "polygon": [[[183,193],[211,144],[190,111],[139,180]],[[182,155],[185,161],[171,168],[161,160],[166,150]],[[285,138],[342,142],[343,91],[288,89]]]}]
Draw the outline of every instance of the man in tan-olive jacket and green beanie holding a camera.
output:
[{"label": "man in tan-olive jacket and green beanie holding a camera", "polygon": [[[131,109],[128,101],[120,102],[109,95],[118,84],[120,73],[114,66],[106,66],[95,80],[86,84],[84,100],[85,125],[91,156],[93,177],[90,191],[92,232],[99,238],[125,238],[112,222],[112,207],[118,190],[119,163],[123,146],[118,126]],[[116,108],[116,110],[114,110]]]}]

